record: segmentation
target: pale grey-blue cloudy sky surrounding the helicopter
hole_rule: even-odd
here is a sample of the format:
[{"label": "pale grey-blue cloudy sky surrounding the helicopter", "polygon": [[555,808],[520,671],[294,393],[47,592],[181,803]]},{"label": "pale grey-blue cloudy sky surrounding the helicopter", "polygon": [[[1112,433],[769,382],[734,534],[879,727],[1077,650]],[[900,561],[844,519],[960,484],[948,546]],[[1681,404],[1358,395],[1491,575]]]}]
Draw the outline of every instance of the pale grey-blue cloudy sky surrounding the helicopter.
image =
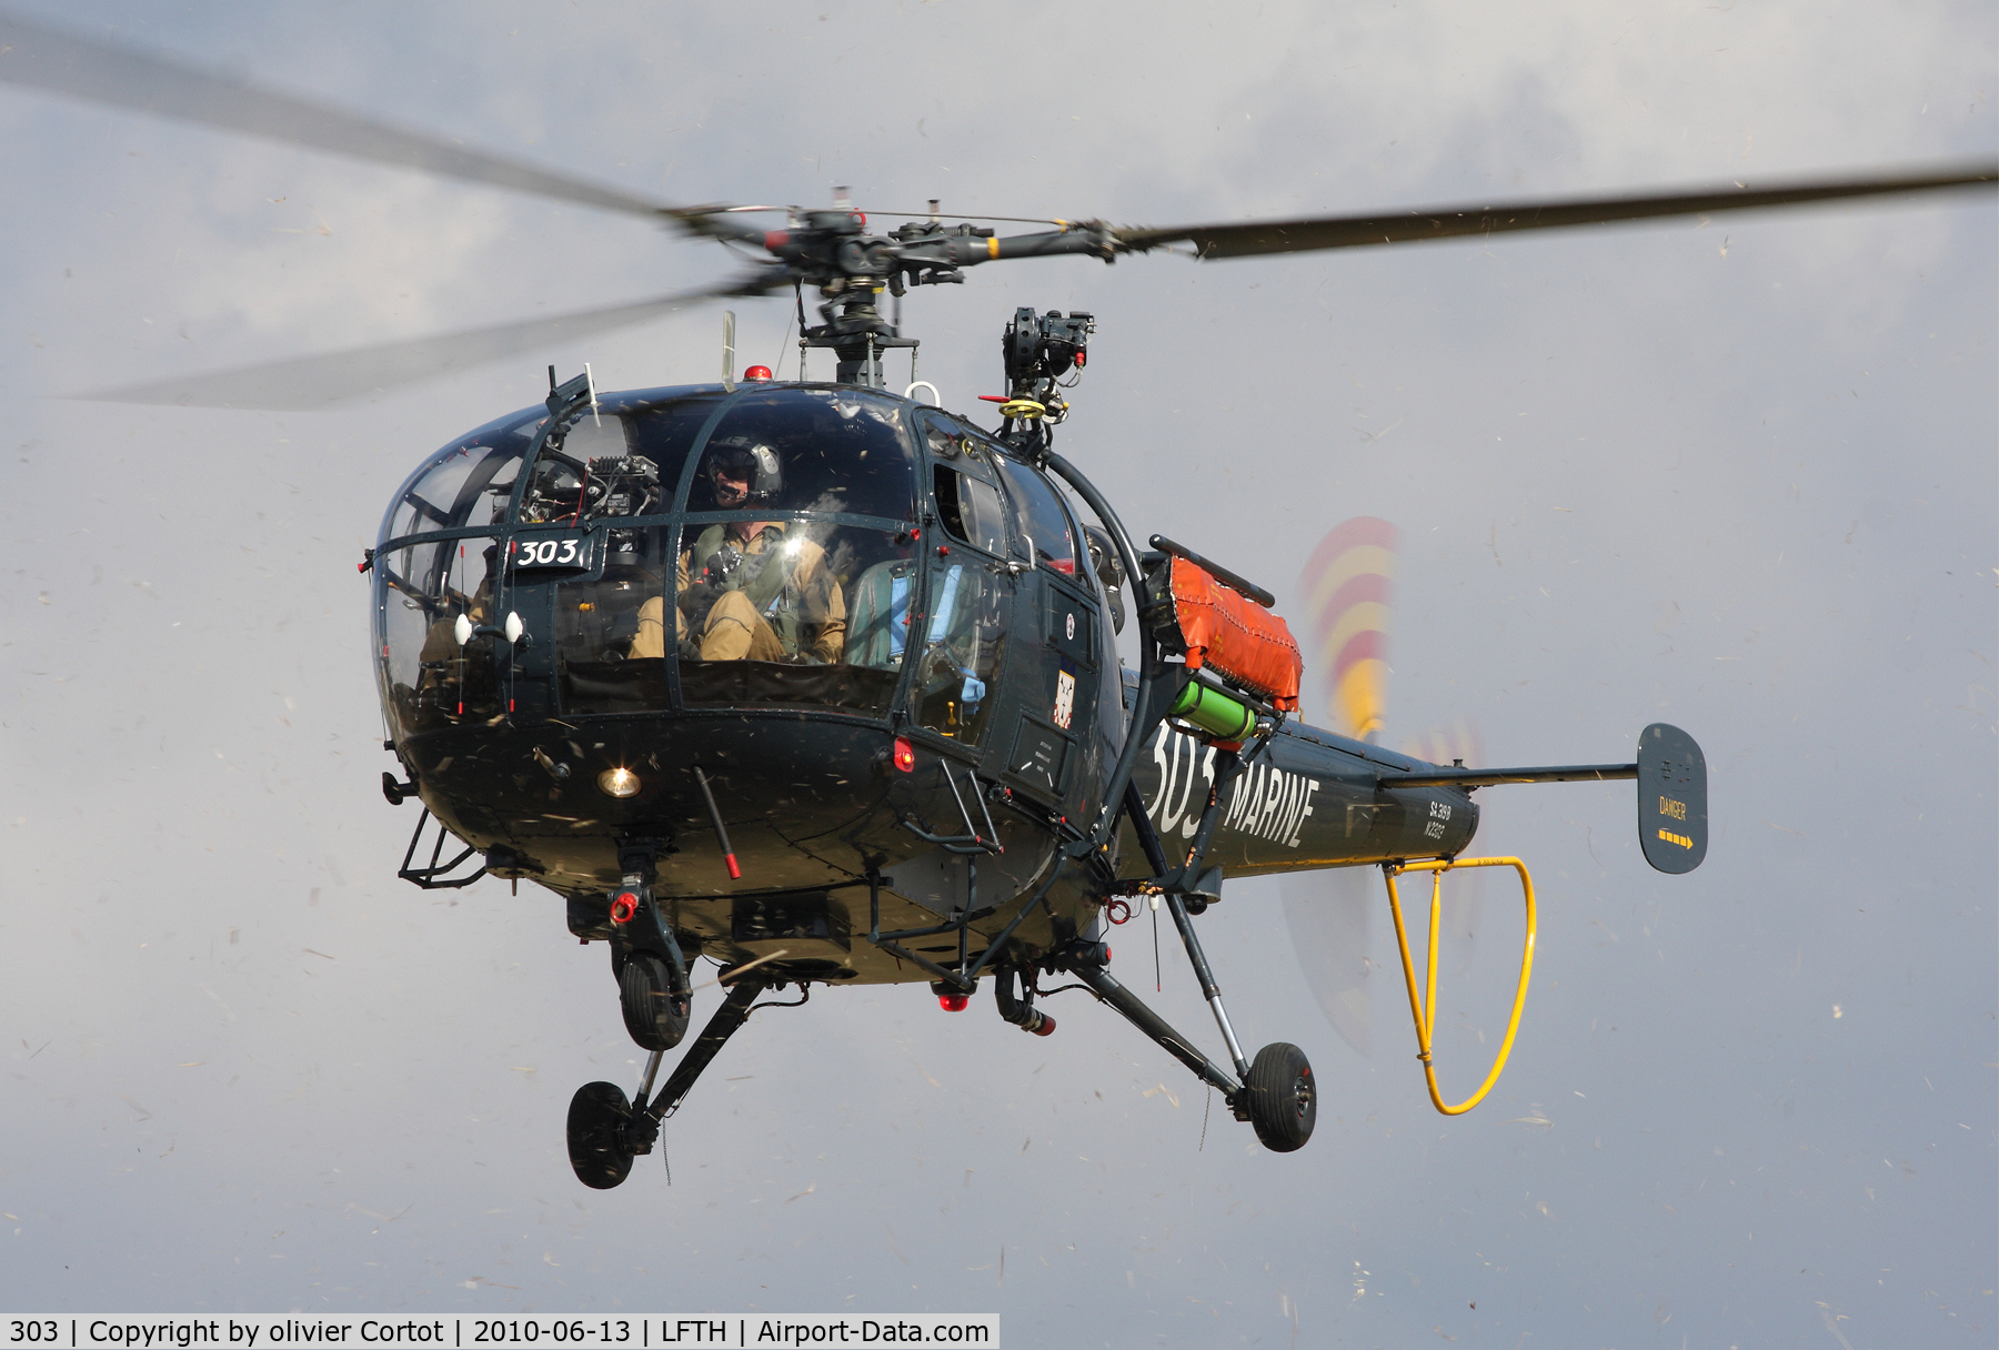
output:
[{"label": "pale grey-blue cloudy sky surrounding the helicopter", "polygon": [[[1991,4],[16,6],[682,202],[1171,224],[1989,158]],[[0,56],[4,60],[4,56]],[[1321,1084],[1255,1146],[1079,995],[758,1014],[616,1192],[562,1120],[636,1080],[604,949],[394,879],[354,573],[430,449],[592,361],[710,379],[704,312],[324,413],[64,401],[654,296],[636,218],[0,84],[0,1306],[998,1310],[1007,1344],[1987,1346],[1995,1272],[1991,196],[1193,264],[906,302],[976,411],[1017,304],[1099,334],[1063,451],[1271,585],[1403,537],[1395,741],[1707,751],[1713,843],[1629,785],[1501,787],[1539,881],[1511,1066],[1437,1116],[1385,985],[1333,1032],[1273,883],[1201,933]],[[782,302],[742,302],[746,359]],[[824,357],[822,357],[824,359]],[[892,373],[900,367],[892,365]],[[1323,709],[1307,707],[1307,715]],[[1327,887],[1331,895],[1331,887]],[[1377,907],[1385,905],[1373,897]],[[1461,1096],[1515,903],[1445,987]],[[1389,959],[1375,923],[1375,959]],[[1149,991],[1149,931],[1115,939]],[[1213,1040],[1183,959],[1161,1011]],[[708,995],[712,999],[712,995]],[[704,1003],[706,1016],[712,1003]]]}]

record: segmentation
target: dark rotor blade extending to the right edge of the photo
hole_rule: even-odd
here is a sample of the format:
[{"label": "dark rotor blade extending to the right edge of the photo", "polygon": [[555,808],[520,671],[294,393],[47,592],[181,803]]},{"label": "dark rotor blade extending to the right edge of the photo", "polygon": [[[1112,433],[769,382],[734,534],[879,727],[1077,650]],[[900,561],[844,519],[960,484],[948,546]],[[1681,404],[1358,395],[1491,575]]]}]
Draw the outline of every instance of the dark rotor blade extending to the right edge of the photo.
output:
[{"label": "dark rotor blade extending to the right edge of the photo", "polygon": [[1387,216],[1321,216],[1313,220],[1263,220],[1237,226],[1173,226],[1165,230],[1117,230],[1119,252],[1143,252],[1161,244],[1193,244],[1201,258],[1249,258],[1253,254],[1299,254],[1319,248],[1365,248],[1369,244],[1409,244],[1451,240],[1513,230],[1567,230],[1655,216],[1707,216],[1769,206],[1803,206],[1839,198],[1877,198],[1943,188],[1991,188],[1999,164],[1959,164],[1925,174],[1879,174],[1867,178],[1825,178],[1781,188],[1705,188],[1633,198],[1577,198],[1555,202],[1513,202],[1507,206],[1455,206]]}]

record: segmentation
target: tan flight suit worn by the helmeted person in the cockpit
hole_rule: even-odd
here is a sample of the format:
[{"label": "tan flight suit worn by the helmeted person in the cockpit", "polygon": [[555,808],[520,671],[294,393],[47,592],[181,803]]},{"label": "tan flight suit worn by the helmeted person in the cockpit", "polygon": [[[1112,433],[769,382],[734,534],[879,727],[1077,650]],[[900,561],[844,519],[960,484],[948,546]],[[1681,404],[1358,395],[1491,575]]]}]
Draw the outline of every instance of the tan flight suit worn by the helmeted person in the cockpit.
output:
[{"label": "tan flight suit worn by the helmeted person in the cockpit", "polygon": [[[696,545],[680,555],[676,591],[692,581],[696,555],[710,557],[724,543],[724,525],[710,525]],[[784,549],[790,557],[770,559],[766,571],[748,585],[732,585],[702,617],[702,661],[784,661],[808,657],[822,665],[838,665],[848,637],[848,607],[826,565],[826,549],[804,533],[806,525],[790,529],[766,525],[748,543],[746,557],[768,549]],[[770,569],[780,569],[772,573]],[[674,607],[674,637],[688,637],[688,619]],[[648,599],[638,611],[638,637],[632,639],[632,659],[666,655],[666,601]]]}]

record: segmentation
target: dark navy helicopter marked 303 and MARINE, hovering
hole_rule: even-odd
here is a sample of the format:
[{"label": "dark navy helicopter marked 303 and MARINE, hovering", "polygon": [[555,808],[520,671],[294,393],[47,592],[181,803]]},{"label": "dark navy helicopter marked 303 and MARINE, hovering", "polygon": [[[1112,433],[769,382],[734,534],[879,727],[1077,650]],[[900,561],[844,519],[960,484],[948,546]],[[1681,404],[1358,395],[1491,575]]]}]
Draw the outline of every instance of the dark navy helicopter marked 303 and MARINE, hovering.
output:
[{"label": "dark navy helicopter marked 303 and MARINE, hovering", "polygon": [[[38,38],[58,52],[64,92],[136,102],[114,76],[148,58],[26,36],[26,56]],[[52,86],[54,68],[16,56],[8,78]],[[1095,316],[1017,312],[1001,339],[1000,425],[982,427],[916,397],[914,361],[908,387],[888,387],[884,353],[914,357],[916,338],[880,312],[884,292],[900,300],[1017,258],[1189,248],[1219,260],[1995,180],[1961,168],[1247,226],[1055,222],[1009,238],[946,226],[936,210],[882,232],[836,204],[758,230],[742,224],[756,208],[650,204],[214,76],[148,70],[188,94],[178,108],[150,100],[154,112],[636,210],[762,254],[746,278],[624,306],[620,322],[708,298],[790,290],[798,302],[800,379],[754,367],[738,381],[726,357],[714,385],[610,393],[588,369],[568,381],[552,371],[542,403],[426,459],[362,561],[386,749],[402,775],[384,775],[384,795],[422,805],[400,873],[426,889],[526,879],[564,897],[570,935],[610,949],[626,1026],[650,1052],[634,1096],[588,1084],[572,1102],[572,1164],[600,1188],[654,1148],[728,1036],[770,1007],[762,995],[790,985],[804,999],[812,985],[928,981],[962,1009],[990,977],[1001,1016],[1047,1034],[1039,979],[1073,977],[1217,1086],[1265,1146],[1293,1150],[1315,1120],[1309,1062],[1289,1044],[1243,1050],[1195,931],[1223,879],[1383,867],[1393,881],[1423,865],[1441,879],[1469,865],[1473,791],[1499,783],[1639,779],[1647,861],[1683,873],[1705,855],[1705,767],[1673,727],[1647,727],[1631,763],[1493,771],[1301,725],[1301,659],[1269,591],[1161,535],[1139,547],[1055,451]],[[808,288],[818,326],[806,324]],[[834,353],[834,379],[806,379],[810,349]],[[838,633],[834,603],[794,585],[792,563],[774,573],[776,559],[758,567],[730,543],[738,523],[754,527],[740,541],[762,543],[758,555],[798,545],[794,557],[812,559],[822,595],[838,595]],[[684,607],[696,591],[706,607]],[[754,645],[704,651],[728,595],[756,597],[772,659]],[[1115,659],[1127,621],[1135,671]],[[1133,901],[1169,911],[1225,1064],[1109,975],[1103,925]],[[700,955],[722,965],[730,993],[654,1090],[688,1036]],[[1407,967],[1407,945],[1403,957]],[[1521,987],[1527,961],[1531,947]],[[1427,1040],[1413,969],[1409,993]],[[1427,1068],[1427,1042],[1423,1058]]]}]

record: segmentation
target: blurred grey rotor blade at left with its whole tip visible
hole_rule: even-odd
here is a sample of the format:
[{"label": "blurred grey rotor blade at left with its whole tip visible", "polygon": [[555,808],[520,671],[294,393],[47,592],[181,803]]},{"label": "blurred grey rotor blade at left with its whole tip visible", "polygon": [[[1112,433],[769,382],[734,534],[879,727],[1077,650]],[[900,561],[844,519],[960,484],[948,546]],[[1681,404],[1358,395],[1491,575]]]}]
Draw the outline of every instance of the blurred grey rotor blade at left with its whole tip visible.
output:
[{"label": "blurred grey rotor blade at left with its whole tip visible", "polygon": [[676,310],[718,300],[722,296],[762,296],[770,286],[764,278],[714,290],[660,296],[636,304],[580,310],[540,320],[516,320],[490,328],[468,328],[458,334],[384,341],[350,351],[328,351],[288,361],[264,361],[206,375],[176,375],[148,383],[94,389],[66,397],[96,403],[170,403],[184,407],[258,407],[270,411],[306,411],[324,407],[356,393],[394,389],[418,379],[432,379],[454,369],[466,369],[504,355],[532,351],[554,341],[574,341],[618,328],[646,324]]}]

